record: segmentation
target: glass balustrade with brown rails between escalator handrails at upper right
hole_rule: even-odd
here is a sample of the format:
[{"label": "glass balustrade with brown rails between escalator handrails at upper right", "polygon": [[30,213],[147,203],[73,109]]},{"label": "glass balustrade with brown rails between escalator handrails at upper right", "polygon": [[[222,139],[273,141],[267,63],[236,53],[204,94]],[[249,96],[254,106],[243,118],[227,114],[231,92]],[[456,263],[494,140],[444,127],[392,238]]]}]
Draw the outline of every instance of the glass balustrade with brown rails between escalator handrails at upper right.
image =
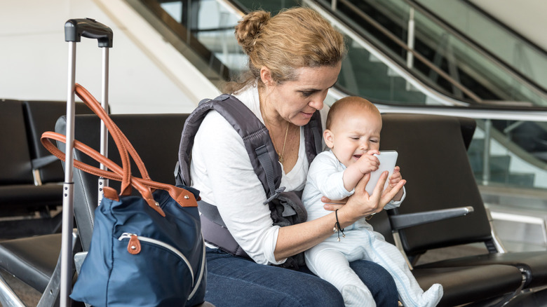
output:
[{"label": "glass balustrade with brown rails between escalator handrails at upper right", "polygon": [[[405,0],[318,0],[414,76],[445,95],[475,103],[547,107],[547,95],[466,36]],[[451,1],[457,2],[457,1]],[[446,5],[446,3],[443,3]],[[543,65],[543,63],[536,63]],[[543,70],[547,69],[543,65]],[[540,68],[541,69],[541,68]]]}]

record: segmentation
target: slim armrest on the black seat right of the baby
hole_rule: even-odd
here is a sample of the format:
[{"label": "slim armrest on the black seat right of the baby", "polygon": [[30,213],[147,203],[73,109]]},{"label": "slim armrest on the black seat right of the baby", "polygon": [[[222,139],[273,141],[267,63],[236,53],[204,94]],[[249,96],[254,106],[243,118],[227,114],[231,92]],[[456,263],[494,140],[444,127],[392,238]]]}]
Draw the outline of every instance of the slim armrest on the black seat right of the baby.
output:
[{"label": "slim armrest on the black seat right of the baby", "polygon": [[442,221],[443,219],[452,219],[454,217],[463,217],[473,212],[473,207],[455,207],[442,210],[431,210],[408,214],[390,214],[389,221],[393,230],[400,230],[412,226],[428,224],[433,221]]}]

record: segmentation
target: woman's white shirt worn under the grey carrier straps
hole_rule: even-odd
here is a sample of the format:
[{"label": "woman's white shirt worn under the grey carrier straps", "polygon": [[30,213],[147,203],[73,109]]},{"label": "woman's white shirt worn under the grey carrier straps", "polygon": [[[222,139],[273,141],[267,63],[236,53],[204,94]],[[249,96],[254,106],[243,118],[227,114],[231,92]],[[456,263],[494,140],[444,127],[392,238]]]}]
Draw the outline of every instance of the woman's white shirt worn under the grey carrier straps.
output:
[{"label": "woman's white shirt worn under the grey carrier straps", "polygon": [[[256,86],[248,86],[234,96],[264,123]],[[328,108],[323,108],[321,114],[323,123],[325,109]],[[301,128],[297,163],[288,174],[283,171],[281,186],[286,187],[285,191],[304,189],[308,168]],[[216,111],[205,116],[196,133],[190,176],[201,198],[217,206],[231,235],[254,261],[258,264],[285,262],[286,259],[275,260],[279,226],[273,225],[269,207],[263,205],[266,193],[252,168],[243,139]]]}]

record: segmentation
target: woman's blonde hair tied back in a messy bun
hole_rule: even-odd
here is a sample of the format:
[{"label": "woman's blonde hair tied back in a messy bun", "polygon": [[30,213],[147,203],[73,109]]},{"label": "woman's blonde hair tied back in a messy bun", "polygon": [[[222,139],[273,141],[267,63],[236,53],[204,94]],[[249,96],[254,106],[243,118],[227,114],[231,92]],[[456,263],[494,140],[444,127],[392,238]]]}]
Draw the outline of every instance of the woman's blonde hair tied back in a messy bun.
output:
[{"label": "woman's blonde hair tied back in a messy bun", "polygon": [[236,38],[249,57],[249,70],[240,81],[227,83],[235,93],[258,79],[267,67],[276,83],[293,81],[295,69],[335,66],[346,55],[344,36],[310,8],[284,9],[274,17],[266,11],[248,13],[236,25]]}]

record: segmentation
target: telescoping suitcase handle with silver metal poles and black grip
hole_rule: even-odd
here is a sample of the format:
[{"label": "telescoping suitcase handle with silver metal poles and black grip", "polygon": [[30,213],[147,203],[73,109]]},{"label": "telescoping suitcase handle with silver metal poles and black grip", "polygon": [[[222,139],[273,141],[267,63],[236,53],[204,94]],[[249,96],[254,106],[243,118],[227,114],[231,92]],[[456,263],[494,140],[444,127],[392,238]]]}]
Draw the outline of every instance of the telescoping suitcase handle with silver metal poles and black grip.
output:
[{"label": "telescoping suitcase handle with silver metal poles and black grip", "polygon": [[[68,67],[68,91],[67,91],[67,144],[65,146],[65,183],[63,184],[62,198],[62,241],[61,241],[61,285],[60,306],[70,306],[69,295],[72,289],[72,219],[74,218],[74,83],[76,81],[76,43],[81,37],[97,39],[103,52],[103,97],[102,107],[108,108],[107,81],[104,74],[108,74],[108,48],[112,48],[112,29],[90,18],[71,19],[65,22],[65,41],[69,42],[69,67]],[[106,88],[106,90],[105,90]],[[101,128],[101,153],[106,151],[106,137],[104,124]],[[103,152],[104,146],[104,152]]]}]

